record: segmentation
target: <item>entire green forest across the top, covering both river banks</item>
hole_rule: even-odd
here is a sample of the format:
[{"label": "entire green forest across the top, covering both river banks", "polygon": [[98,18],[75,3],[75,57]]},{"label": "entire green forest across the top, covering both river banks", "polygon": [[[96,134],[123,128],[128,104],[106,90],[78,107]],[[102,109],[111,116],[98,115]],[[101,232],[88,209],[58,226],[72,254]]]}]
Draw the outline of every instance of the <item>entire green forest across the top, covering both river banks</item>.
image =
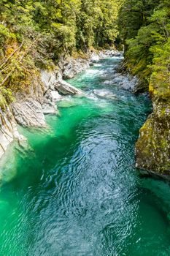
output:
[{"label": "entire green forest across the top, covering both river banks", "polygon": [[20,80],[28,86],[36,68],[53,68],[65,54],[115,43],[125,46],[139,91],[155,80],[160,91],[169,85],[169,12],[168,0],[1,0],[1,94],[12,100]]}]

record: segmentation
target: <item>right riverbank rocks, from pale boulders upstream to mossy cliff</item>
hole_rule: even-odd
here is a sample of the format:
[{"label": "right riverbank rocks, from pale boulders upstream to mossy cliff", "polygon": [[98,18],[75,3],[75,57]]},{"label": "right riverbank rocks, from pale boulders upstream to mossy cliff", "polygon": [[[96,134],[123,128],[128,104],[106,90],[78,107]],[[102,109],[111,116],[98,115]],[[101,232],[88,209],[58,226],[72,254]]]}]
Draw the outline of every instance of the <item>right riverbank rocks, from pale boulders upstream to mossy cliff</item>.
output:
[{"label": "right riverbank rocks, from pale boulders upstream to mossy cliff", "polygon": [[[149,90],[137,76],[128,75],[127,70],[120,65],[115,79],[124,89],[134,94],[146,93],[152,100],[152,113],[148,116],[139,130],[136,142],[136,167],[144,176],[157,176],[170,179],[170,105],[169,105],[169,78],[164,79],[158,74],[150,78]],[[156,79],[155,79],[156,78]],[[127,83],[131,80],[132,83]]]}]

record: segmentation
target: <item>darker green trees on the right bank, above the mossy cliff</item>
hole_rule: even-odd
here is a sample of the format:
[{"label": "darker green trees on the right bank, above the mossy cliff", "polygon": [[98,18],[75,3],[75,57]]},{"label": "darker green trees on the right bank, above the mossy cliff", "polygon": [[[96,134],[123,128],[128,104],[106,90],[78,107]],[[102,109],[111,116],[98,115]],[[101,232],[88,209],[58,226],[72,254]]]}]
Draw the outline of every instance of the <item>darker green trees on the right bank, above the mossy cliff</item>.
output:
[{"label": "darker green trees on the right bank, above the mossy cliff", "polygon": [[[119,16],[125,61],[138,75],[142,89],[169,86],[170,2],[169,0],[125,0]],[[151,78],[151,80],[150,80]],[[165,82],[161,83],[164,80]],[[158,84],[159,83],[159,84]],[[153,92],[153,88],[150,88]]]}]

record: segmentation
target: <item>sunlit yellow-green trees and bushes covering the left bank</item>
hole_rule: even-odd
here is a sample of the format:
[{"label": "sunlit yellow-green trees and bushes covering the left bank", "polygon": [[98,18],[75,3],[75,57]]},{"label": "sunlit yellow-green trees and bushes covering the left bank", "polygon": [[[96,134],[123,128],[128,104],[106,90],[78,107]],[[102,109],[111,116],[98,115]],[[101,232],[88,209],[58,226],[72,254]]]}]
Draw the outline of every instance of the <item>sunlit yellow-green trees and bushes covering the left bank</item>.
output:
[{"label": "sunlit yellow-green trees and bushes covering the left bank", "polygon": [[0,88],[26,87],[36,67],[112,45],[119,6],[118,0],[0,0]]}]

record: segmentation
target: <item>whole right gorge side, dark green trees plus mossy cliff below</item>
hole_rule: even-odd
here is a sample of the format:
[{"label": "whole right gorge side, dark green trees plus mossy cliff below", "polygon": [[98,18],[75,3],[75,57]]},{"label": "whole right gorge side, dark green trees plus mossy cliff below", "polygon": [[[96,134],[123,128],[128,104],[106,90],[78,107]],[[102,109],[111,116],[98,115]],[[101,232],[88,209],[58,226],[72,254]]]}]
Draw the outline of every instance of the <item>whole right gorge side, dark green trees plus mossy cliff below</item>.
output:
[{"label": "whole right gorge side, dark green trees plus mossy cliff below", "polygon": [[139,78],[135,92],[149,92],[153,106],[139,132],[136,167],[169,175],[170,2],[124,0],[119,28],[125,44],[125,70]]}]

